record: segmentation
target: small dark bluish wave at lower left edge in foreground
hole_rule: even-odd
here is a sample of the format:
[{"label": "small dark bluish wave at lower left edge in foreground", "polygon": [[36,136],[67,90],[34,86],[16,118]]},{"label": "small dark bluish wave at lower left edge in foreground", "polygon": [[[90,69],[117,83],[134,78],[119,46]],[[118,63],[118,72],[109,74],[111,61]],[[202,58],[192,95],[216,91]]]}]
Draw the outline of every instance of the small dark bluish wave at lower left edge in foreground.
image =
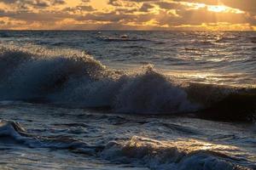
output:
[{"label": "small dark bluish wave at lower left edge in foreground", "polygon": [[20,123],[0,120],[0,142],[4,144],[21,144],[30,148],[53,148],[72,150],[88,155],[95,155],[102,146],[86,144],[66,136],[43,137],[27,133]]}]

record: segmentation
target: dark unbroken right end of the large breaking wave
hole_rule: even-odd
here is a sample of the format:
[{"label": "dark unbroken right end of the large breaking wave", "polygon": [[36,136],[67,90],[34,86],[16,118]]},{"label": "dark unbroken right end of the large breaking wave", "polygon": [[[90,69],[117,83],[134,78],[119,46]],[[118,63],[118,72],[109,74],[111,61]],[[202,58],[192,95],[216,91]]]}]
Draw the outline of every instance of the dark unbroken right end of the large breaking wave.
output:
[{"label": "dark unbroken right end of the large breaking wave", "polygon": [[222,121],[256,120],[256,89],[190,83],[189,99],[203,105],[197,116]]}]

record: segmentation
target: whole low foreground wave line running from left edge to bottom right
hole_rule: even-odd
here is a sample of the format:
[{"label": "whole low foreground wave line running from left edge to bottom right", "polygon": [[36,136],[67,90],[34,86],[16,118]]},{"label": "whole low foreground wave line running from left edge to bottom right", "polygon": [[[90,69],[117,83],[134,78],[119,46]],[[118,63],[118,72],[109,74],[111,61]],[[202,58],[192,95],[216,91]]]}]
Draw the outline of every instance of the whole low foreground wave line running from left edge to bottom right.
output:
[{"label": "whole low foreground wave line running from left edge to bottom right", "polygon": [[[113,163],[131,164],[151,169],[243,169],[243,162],[221,151],[201,149],[204,144],[199,141],[161,142],[134,136],[124,141],[109,141],[106,144],[87,144],[68,137],[42,137],[27,133],[18,122],[0,120],[0,142],[19,144],[30,148],[51,148],[69,150],[74,153],[97,156]],[[214,147],[213,147],[214,146]],[[209,144],[207,144],[209,148]],[[225,147],[220,145],[220,148]],[[229,150],[234,150],[229,147]],[[236,165],[237,164],[237,165]],[[240,164],[240,165],[238,165]]]}]

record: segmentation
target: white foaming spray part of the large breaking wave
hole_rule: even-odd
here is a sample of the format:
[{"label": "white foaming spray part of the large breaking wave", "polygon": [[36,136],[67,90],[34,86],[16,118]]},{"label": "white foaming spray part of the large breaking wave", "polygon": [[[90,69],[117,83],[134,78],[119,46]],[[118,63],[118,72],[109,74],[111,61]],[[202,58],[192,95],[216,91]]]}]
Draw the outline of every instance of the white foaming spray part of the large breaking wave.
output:
[{"label": "white foaming spray part of the large breaking wave", "polygon": [[[151,67],[128,75],[109,70],[77,51],[32,48],[32,51],[15,47],[1,49],[0,58],[7,62],[1,69],[9,70],[1,82],[2,98],[51,99],[56,103],[108,106],[114,111],[133,113],[176,113],[196,109],[182,88]],[[6,68],[9,63],[15,65]]]}]

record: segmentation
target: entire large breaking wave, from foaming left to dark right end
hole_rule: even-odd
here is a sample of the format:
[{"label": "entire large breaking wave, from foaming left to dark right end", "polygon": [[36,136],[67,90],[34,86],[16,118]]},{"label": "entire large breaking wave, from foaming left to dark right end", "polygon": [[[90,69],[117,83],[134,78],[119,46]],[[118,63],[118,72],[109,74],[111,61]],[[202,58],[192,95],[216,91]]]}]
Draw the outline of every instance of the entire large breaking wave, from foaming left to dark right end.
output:
[{"label": "entire large breaking wave, from foaming left to dark right end", "polygon": [[182,84],[152,65],[127,73],[109,69],[77,50],[32,45],[0,47],[0,99],[102,107],[121,113],[200,111],[196,114],[226,120],[253,119],[256,111],[255,88]]}]

